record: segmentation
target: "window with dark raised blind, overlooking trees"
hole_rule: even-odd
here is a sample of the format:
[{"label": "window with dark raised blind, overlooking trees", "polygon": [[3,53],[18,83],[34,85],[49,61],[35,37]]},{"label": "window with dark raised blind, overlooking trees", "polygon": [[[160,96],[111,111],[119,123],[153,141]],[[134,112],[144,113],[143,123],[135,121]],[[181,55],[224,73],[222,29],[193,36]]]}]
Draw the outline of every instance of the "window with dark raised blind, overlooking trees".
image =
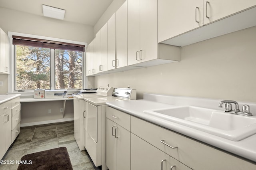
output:
[{"label": "window with dark raised blind, overlooking trees", "polygon": [[82,89],[84,45],[13,36],[15,90]]}]

